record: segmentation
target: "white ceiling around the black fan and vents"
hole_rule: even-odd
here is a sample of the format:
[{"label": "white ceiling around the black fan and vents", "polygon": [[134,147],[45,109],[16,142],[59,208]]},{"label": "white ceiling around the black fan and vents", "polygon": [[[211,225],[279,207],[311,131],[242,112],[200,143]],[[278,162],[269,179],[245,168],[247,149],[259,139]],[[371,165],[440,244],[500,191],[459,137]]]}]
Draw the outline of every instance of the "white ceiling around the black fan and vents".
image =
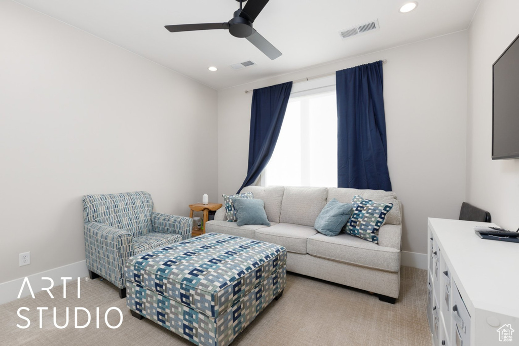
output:
[{"label": "white ceiling around the black fan and vents", "polygon": [[[227,22],[236,0],[16,0],[214,89],[302,70],[468,28],[480,0],[270,0],[254,29],[283,55],[270,60],[227,30],[170,33],[164,25]],[[380,29],[338,32],[378,19]],[[252,60],[256,66],[232,70]],[[217,72],[207,70],[218,67]]]}]

